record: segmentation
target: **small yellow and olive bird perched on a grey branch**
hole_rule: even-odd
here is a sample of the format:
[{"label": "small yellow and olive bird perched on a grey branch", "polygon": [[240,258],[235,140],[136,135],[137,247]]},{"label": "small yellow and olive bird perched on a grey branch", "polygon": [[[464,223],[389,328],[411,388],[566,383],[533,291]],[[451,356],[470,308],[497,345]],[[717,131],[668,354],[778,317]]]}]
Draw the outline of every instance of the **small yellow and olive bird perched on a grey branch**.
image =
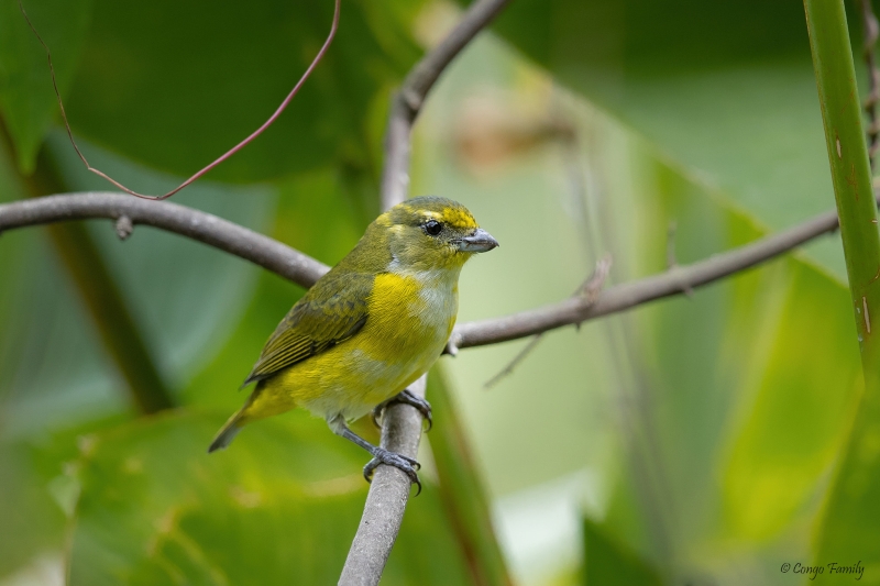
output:
[{"label": "small yellow and olive bird perched on a grey branch", "polygon": [[208,449],[226,447],[245,423],[294,407],[419,484],[415,460],[375,446],[346,424],[388,402],[430,406],[406,387],[440,357],[459,310],[459,274],[498,243],[450,199],[415,198],[380,215],[358,245],[290,309],[244,385],[251,397]]}]

